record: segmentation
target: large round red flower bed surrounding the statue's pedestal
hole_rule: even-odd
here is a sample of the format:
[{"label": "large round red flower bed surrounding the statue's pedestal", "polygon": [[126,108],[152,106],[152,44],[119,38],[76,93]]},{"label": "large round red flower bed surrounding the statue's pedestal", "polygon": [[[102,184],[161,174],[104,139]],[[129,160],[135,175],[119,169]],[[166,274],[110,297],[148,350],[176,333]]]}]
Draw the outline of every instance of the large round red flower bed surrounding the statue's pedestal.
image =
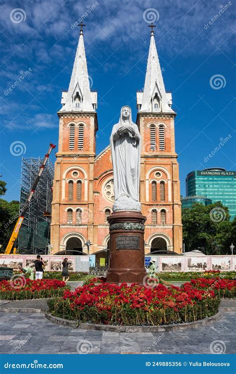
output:
[{"label": "large round red flower bed surrounding the statue's pedestal", "polygon": [[217,313],[220,298],[213,289],[162,284],[110,284],[98,279],[63,298],[51,299],[49,311],[62,318],[103,324],[159,325],[190,322]]}]

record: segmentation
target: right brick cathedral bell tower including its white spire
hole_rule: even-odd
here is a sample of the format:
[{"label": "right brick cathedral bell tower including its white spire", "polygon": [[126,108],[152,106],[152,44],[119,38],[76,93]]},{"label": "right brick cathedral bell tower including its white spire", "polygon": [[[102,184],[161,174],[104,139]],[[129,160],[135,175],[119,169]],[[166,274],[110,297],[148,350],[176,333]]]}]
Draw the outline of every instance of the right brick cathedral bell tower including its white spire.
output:
[{"label": "right brick cathedral bell tower including its white spire", "polygon": [[[137,92],[136,123],[142,137],[140,201],[145,223],[145,254],[182,252],[179,165],[175,153],[172,96],[165,90],[154,25],[143,92]],[[164,253],[163,253],[164,254]]]}]

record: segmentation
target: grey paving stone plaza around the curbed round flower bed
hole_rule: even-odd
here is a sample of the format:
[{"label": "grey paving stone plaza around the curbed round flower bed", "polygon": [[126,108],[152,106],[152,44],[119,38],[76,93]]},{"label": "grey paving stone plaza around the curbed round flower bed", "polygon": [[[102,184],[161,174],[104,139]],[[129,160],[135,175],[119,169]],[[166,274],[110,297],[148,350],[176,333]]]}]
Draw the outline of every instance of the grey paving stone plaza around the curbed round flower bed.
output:
[{"label": "grey paving stone plaza around the curbed round flower bed", "polygon": [[218,321],[207,326],[158,333],[60,326],[48,321],[43,311],[32,313],[46,307],[46,300],[1,302],[2,354],[233,354],[236,351],[235,300],[223,300],[220,309],[232,311],[224,311]]}]

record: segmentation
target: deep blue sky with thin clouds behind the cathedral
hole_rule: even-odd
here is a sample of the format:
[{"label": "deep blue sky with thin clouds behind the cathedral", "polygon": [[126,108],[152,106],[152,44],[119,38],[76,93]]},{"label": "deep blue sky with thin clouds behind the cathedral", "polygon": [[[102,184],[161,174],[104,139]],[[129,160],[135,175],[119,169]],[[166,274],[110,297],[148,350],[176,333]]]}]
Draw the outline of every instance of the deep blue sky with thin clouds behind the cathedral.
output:
[{"label": "deep blue sky with thin clouds behind the cathedral", "polygon": [[[97,154],[108,145],[122,105],[131,106],[135,121],[136,90],[144,86],[148,22],[153,19],[165,88],[177,111],[181,193],[185,196],[185,177],[192,170],[236,170],[234,14],[235,1],[222,0],[2,1],[4,198],[19,198],[22,154],[15,154],[43,156],[50,142],[58,142],[57,111],[78,42],[74,24],[82,16],[92,90],[98,91]],[[15,84],[20,75],[23,79]]]}]

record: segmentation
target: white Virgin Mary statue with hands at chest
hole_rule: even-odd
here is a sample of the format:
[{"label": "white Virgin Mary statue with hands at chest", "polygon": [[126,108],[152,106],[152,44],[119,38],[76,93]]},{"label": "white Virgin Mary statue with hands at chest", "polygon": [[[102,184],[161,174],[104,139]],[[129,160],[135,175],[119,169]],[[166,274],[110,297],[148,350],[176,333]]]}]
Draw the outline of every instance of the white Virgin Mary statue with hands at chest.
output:
[{"label": "white Virgin Mary statue with hands at chest", "polygon": [[138,127],[132,122],[131,108],[122,106],[119,122],[111,135],[115,203],[113,211],[141,210],[139,202],[140,140]]}]

